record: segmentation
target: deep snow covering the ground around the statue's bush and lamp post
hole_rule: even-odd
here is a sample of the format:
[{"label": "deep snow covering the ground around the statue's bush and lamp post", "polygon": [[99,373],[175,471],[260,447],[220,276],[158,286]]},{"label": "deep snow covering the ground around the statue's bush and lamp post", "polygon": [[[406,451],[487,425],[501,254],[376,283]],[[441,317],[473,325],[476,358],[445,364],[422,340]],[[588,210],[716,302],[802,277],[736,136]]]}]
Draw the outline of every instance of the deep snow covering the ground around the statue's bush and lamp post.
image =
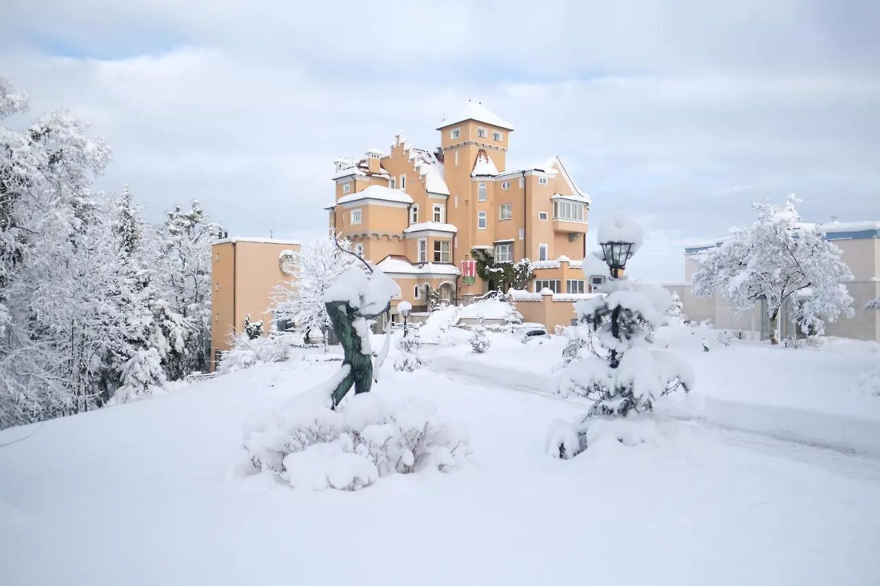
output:
[{"label": "deep snow covering the ground around the statue's bush and lamp post", "polygon": [[473,453],[356,492],[231,474],[248,414],[339,368],[314,355],[4,430],[33,436],[0,447],[0,583],[880,584],[880,348],[715,335],[663,328],[694,391],[658,402],[651,441],[571,460],[546,456],[585,410],[552,394],[560,337],[473,355],[453,330],[414,373],[392,350],[373,391],[434,401]]}]

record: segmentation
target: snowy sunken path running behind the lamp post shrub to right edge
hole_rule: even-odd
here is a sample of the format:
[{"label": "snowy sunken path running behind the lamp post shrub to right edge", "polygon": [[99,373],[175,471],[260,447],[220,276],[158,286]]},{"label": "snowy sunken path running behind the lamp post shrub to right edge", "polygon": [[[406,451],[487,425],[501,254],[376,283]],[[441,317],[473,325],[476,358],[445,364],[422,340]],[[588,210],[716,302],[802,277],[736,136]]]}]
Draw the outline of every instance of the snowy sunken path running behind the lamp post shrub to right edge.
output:
[{"label": "snowy sunken path running behind the lamp post shrub to right edge", "polygon": [[[585,405],[577,398],[562,399],[555,395],[554,379],[547,375],[491,369],[479,363],[444,355],[431,356],[427,363],[437,373],[456,377],[470,384],[492,385]],[[672,395],[665,399],[664,405],[658,408],[658,414],[690,422],[696,427],[730,432],[727,434],[730,437],[761,436],[762,440],[753,437],[752,443],[761,444],[765,449],[770,444],[779,447],[797,444],[814,452],[837,452],[863,461],[864,466],[871,470],[880,470],[880,421],[702,397],[699,388],[690,397]]]}]

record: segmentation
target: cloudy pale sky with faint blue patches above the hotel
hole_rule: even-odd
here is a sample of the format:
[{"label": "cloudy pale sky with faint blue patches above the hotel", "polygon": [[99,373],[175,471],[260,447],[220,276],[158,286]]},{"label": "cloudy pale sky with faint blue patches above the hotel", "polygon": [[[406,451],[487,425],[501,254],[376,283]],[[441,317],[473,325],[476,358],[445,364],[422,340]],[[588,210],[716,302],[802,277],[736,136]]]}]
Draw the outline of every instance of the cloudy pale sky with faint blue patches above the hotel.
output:
[{"label": "cloudy pale sky with faint blue patches above the hotel", "polygon": [[[511,163],[558,154],[646,229],[632,275],[803,198],[880,221],[875,0],[11,0],[0,75],[114,146],[99,187],[148,216],[195,198],[231,234],[310,238],[334,157],[434,148],[467,99],[512,121]],[[24,121],[18,121],[23,123]],[[16,123],[16,121],[13,121]]]}]

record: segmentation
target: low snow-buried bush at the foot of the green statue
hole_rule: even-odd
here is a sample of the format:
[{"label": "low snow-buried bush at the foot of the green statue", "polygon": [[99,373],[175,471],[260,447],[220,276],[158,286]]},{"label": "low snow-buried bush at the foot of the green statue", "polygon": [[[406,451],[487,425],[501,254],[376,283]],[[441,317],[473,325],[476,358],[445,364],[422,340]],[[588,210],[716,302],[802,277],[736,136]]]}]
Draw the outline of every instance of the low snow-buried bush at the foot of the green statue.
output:
[{"label": "low snow-buried bush at the foot of the green statue", "polygon": [[274,472],[297,488],[357,490],[395,472],[447,471],[464,462],[466,431],[439,417],[429,401],[396,403],[364,392],[334,411],[326,399],[333,382],[278,413],[249,418],[237,474]]}]

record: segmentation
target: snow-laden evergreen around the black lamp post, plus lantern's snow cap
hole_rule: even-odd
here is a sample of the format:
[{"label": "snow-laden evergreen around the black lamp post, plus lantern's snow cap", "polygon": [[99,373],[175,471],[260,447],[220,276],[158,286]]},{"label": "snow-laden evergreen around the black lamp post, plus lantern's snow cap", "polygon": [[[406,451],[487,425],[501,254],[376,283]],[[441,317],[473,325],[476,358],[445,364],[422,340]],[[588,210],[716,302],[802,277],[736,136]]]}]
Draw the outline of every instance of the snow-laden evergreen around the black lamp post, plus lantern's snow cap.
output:
[{"label": "snow-laden evergreen around the black lamp post, plus lantern's snow cap", "polygon": [[[603,232],[602,228],[599,229]],[[642,241],[641,228],[627,218],[613,218],[611,229],[600,242]],[[607,232],[612,235],[608,236]],[[583,271],[598,271],[593,260],[584,260]],[[627,426],[607,425],[607,420],[651,412],[656,399],[683,388],[693,388],[693,370],[677,355],[650,349],[652,334],[666,323],[664,311],[671,295],[662,287],[610,279],[604,293],[577,302],[578,330],[572,333],[563,352],[559,392],[575,393],[590,399],[587,414],[575,424],[558,422],[548,438],[548,451],[555,457],[571,458],[585,449],[590,437],[603,429],[618,436],[629,433]],[[594,340],[595,338],[595,340]],[[589,355],[579,350],[587,348]]]}]

